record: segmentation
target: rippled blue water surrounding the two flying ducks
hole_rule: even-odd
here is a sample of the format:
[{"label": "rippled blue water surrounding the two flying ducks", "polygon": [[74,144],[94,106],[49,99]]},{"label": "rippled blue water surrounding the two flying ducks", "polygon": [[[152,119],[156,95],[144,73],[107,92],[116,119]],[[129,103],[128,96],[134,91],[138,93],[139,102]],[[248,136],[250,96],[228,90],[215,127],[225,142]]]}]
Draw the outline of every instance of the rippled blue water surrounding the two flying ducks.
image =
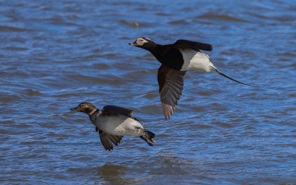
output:
[{"label": "rippled blue water surrounding the two flying ducks", "polygon": [[[295,1],[0,1],[0,184],[295,184]],[[129,46],[213,45],[171,120],[160,63]],[[105,151],[81,102],[156,134]]]}]

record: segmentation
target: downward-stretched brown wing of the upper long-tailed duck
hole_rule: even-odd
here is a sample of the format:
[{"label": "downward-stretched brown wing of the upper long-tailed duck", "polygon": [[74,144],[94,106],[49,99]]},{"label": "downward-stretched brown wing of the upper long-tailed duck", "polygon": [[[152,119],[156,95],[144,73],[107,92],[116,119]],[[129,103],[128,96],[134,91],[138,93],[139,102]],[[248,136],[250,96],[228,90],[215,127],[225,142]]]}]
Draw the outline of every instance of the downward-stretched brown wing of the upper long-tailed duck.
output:
[{"label": "downward-stretched brown wing of the upper long-tailed duck", "polygon": [[[157,80],[159,85],[159,95],[165,119],[173,115],[175,105],[177,105],[183,90],[183,77],[186,71],[178,71],[161,65],[158,69]],[[168,118],[167,118],[168,117]]]}]

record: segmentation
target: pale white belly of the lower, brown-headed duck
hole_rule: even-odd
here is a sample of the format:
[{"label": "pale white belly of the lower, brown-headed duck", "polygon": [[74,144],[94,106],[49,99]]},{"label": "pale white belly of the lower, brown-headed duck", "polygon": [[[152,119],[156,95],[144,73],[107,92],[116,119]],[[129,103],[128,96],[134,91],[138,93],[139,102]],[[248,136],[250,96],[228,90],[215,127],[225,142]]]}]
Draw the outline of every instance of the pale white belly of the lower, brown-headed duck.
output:
[{"label": "pale white belly of the lower, brown-headed duck", "polygon": [[97,117],[95,126],[100,130],[116,136],[143,136],[145,133],[139,128],[144,128],[138,121],[124,115]]}]

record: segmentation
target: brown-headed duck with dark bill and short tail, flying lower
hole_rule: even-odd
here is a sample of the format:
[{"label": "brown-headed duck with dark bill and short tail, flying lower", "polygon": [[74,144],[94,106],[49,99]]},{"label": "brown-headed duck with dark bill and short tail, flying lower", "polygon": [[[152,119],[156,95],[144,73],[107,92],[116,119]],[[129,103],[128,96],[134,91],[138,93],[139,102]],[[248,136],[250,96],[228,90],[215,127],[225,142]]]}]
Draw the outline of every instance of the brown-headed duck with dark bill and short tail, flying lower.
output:
[{"label": "brown-headed duck with dark bill and short tail, flying lower", "polygon": [[72,111],[84,112],[89,115],[91,123],[99,131],[101,142],[106,150],[113,150],[113,144],[120,143],[123,136],[139,136],[153,146],[155,134],[144,128],[140,121],[133,117],[133,111],[114,105],[106,105],[97,109],[93,104],[83,102]]}]

